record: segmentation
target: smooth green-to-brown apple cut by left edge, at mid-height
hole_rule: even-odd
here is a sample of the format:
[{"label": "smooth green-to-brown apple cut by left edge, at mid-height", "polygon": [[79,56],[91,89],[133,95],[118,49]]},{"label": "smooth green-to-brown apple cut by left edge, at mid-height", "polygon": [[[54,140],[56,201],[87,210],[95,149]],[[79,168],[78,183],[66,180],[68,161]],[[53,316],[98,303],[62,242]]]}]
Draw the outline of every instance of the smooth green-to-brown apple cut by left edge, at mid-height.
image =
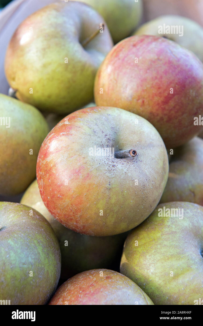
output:
[{"label": "smooth green-to-brown apple cut by left edge, at mid-height", "polygon": [[36,108],[3,94],[0,117],[0,194],[18,195],[36,176],[37,156],[48,125]]}]

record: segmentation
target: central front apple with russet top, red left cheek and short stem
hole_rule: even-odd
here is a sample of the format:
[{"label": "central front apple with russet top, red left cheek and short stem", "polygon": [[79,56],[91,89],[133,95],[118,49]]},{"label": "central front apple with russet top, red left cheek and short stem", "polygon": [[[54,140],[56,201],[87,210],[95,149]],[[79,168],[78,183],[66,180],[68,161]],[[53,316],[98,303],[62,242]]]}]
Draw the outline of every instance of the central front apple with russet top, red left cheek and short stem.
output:
[{"label": "central front apple with russet top, red left cheek and short stem", "polygon": [[[95,152],[94,146],[109,147],[110,155]],[[130,149],[137,156],[111,155]],[[73,231],[109,236],[131,230],[151,214],[168,169],[165,145],[148,121],[119,108],[91,107],[69,114],[52,129],[36,171],[51,215]]]}]

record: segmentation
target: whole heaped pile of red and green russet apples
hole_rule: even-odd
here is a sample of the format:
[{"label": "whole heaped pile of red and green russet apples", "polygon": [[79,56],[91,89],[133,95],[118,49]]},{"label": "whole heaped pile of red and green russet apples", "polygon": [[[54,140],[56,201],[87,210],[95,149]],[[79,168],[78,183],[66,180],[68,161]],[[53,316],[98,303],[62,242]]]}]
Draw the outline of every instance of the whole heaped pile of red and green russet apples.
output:
[{"label": "whole heaped pile of red and green russet apples", "polygon": [[203,304],[203,29],[143,13],[42,1],[9,40],[2,301]]}]

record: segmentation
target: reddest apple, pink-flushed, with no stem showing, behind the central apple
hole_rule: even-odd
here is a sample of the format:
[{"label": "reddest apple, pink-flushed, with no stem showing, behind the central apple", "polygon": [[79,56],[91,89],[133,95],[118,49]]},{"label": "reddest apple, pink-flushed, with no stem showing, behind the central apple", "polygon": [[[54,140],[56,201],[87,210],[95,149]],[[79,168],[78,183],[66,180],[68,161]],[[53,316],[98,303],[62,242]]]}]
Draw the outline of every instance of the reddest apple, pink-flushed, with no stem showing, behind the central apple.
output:
[{"label": "reddest apple, pink-flushed, with no stem showing, behind the central apple", "polygon": [[108,53],[95,79],[95,102],[141,115],[167,148],[189,141],[203,126],[203,64],[164,37],[131,36]]}]

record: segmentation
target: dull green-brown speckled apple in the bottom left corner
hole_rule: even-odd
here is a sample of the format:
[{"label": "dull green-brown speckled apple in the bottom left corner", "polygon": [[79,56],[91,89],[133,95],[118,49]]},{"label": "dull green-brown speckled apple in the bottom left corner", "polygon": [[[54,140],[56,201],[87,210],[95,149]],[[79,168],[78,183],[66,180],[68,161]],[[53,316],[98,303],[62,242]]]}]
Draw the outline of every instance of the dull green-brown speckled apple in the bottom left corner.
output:
[{"label": "dull green-brown speckled apple in the bottom left corner", "polygon": [[56,290],[61,253],[46,218],[31,207],[0,202],[0,298],[46,304]]}]

